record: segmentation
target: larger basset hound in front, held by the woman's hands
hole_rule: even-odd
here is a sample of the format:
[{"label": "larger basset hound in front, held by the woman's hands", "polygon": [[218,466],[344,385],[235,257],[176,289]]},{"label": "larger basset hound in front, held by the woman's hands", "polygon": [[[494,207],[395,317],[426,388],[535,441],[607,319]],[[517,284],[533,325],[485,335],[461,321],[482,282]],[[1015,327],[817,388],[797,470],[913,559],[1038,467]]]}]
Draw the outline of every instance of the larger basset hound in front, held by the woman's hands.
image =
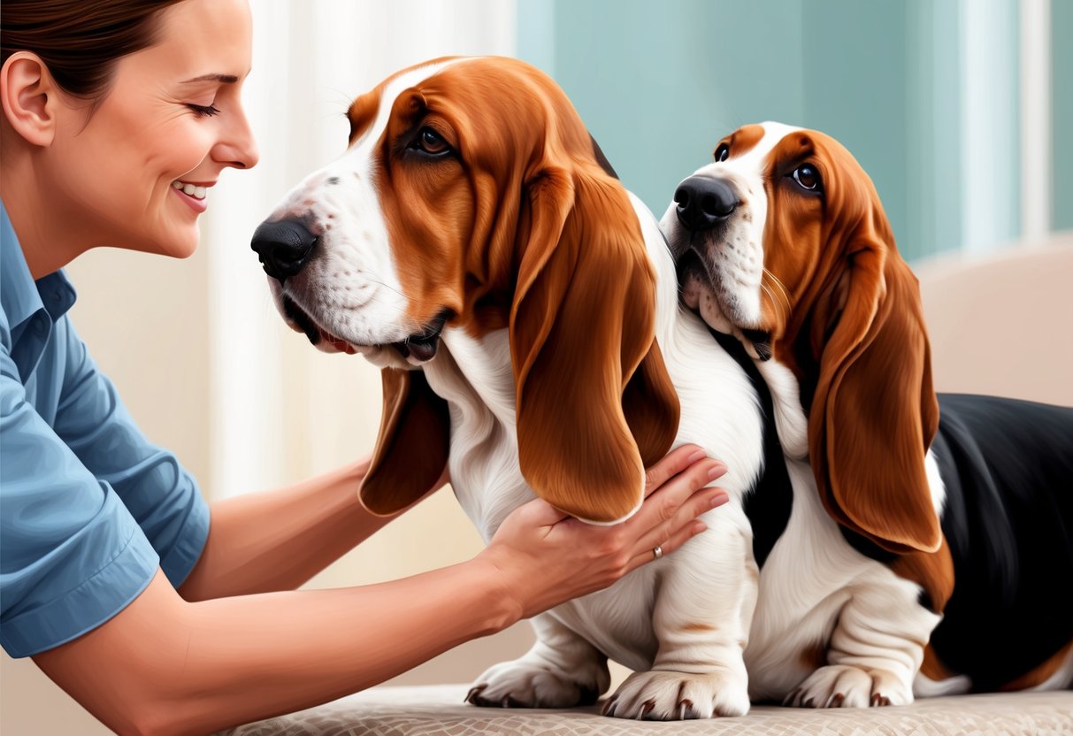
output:
[{"label": "larger basset hound in front, held by the woman's hands", "polygon": [[759,586],[746,497],[788,471],[749,362],[680,308],[656,218],[520,61],[406,69],[348,118],[346,152],[284,196],[252,247],[293,327],[383,369],[368,509],[402,509],[447,466],[487,540],[534,495],[592,524],[626,519],[645,468],[681,443],[730,468],[731,501],[706,532],[535,617],[532,650],[470,701],[592,702],[609,657],[635,671],[607,702],[616,717],[745,713]]}]

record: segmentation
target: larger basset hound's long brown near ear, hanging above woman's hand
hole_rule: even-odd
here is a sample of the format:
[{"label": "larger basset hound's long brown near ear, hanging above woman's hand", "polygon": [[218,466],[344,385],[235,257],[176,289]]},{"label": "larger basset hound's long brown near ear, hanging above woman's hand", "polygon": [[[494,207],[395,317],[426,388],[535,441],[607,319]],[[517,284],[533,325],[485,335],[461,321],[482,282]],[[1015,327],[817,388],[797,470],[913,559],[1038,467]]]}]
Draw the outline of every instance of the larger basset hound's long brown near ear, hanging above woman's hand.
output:
[{"label": "larger basset hound's long brown near ear, hanging above woman's hand", "polygon": [[548,166],[528,188],[511,308],[518,454],[533,490],[609,524],[641,505],[678,398],[655,339],[656,278],[624,190]]}]

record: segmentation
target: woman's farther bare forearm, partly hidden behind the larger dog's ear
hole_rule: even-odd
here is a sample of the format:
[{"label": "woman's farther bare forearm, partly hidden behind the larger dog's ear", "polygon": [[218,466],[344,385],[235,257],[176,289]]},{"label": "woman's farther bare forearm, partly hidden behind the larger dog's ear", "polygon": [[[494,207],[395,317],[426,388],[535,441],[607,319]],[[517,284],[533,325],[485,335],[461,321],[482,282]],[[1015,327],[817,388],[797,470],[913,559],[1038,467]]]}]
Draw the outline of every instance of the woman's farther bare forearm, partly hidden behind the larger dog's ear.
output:
[{"label": "woman's farther bare forearm, partly hidden behind the larger dog's ear", "polygon": [[[294,486],[212,503],[205,549],[179,593],[205,601],[297,588],[398,516],[374,516],[358,501],[368,469],[364,458]],[[429,494],[445,482],[446,474]]]}]

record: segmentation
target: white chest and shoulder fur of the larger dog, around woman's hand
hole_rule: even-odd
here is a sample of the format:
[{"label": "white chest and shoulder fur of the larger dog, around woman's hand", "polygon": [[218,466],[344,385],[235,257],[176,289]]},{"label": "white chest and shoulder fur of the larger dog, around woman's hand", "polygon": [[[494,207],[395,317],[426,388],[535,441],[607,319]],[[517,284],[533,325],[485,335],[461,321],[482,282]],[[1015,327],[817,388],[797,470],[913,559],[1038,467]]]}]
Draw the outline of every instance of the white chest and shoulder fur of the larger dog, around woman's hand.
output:
[{"label": "white chest and shoulder fur of the larger dog, around woman's hand", "polygon": [[[679,318],[676,324],[688,327],[676,328],[661,343],[682,408],[675,444],[695,442],[723,459],[733,470],[719,485],[739,501],[762,461],[759,407],[748,379],[699,321]],[[425,368],[429,385],[451,408],[452,486],[485,541],[511,511],[534,498],[518,467],[510,366],[506,330],[480,340],[447,330],[442,352]],[[612,659],[647,668],[657,649],[652,610],[661,575],[668,565],[703,570],[711,551],[699,541],[552,615]]]}]

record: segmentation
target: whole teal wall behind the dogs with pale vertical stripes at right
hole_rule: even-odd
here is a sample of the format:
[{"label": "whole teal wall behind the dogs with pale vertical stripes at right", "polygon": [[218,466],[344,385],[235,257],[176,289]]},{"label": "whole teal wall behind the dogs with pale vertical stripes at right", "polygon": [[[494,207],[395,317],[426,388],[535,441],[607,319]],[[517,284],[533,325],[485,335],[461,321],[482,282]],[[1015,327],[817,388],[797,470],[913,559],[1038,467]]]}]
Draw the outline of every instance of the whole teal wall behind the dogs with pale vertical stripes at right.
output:
[{"label": "whole teal wall behind the dogs with pale vertical stripes at right", "polygon": [[[985,93],[974,99],[959,0],[518,0],[518,56],[556,78],[657,216],[720,137],[780,120],[829,133],[856,156],[912,260],[979,238],[979,218],[995,241],[1019,233],[1018,89],[1006,63],[1017,58],[1017,0],[973,2],[1000,51],[984,57],[998,74],[981,69]],[[1073,1],[1055,6],[1057,34]],[[1055,54],[1057,65],[1057,35]],[[1070,45],[1060,54],[1073,70]],[[1070,79],[1056,70],[1055,84]],[[1071,116],[1056,105],[1055,130],[1073,129]],[[997,138],[987,150],[966,146],[974,119]],[[1064,179],[1056,171],[1056,225],[1073,219],[1057,206],[1073,195],[1071,170]],[[966,194],[969,176],[989,182],[975,190],[985,197]]]}]

